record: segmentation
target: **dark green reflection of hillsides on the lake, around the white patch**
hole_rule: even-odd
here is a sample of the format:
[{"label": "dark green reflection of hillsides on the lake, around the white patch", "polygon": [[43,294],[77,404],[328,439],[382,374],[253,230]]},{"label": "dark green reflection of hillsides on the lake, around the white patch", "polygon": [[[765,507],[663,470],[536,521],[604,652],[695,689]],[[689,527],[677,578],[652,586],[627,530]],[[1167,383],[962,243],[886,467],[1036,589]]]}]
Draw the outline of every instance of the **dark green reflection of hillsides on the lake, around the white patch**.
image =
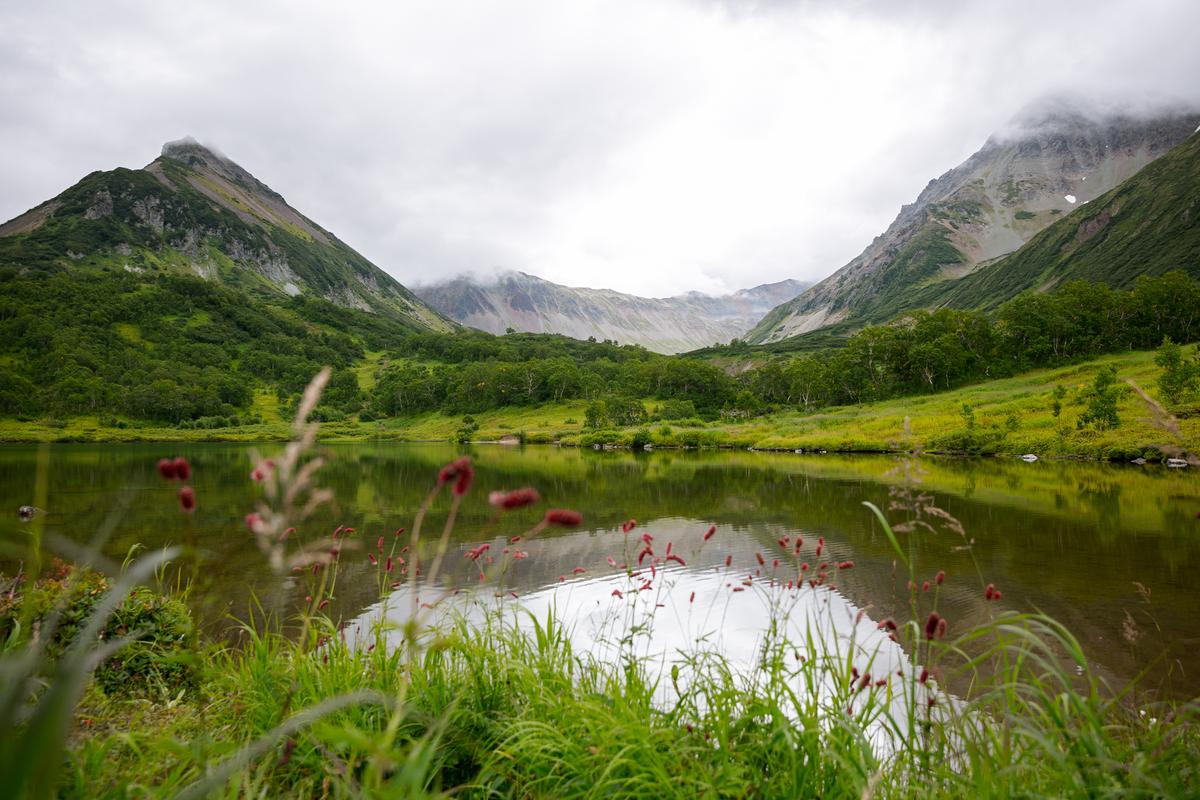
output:
[{"label": "dark green reflection of hillsides on the lake, around the white patch", "polygon": [[[56,445],[49,449],[47,533],[85,539],[97,530],[122,493],[128,511],[119,519],[108,552],[120,559],[136,543],[156,548],[194,545],[204,555],[199,576],[206,581],[193,596],[205,616],[223,625],[224,614],[245,616],[248,593],[269,608],[289,613],[302,599],[310,576],[286,579],[265,570],[245,530],[242,517],[258,488],[247,475],[250,447],[185,445],[194,464],[199,500],[196,516],[180,517],[174,487],[154,470],[161,445]],[[356,528],[346,549],[337,584],[337,606],[350,616],[378,597],[379,576],[364,549],[379,535],[391,547],[392,531],[412,524],[413,513],[433,483],[437,468],[457,451],[450,445],[329,445],[322,482],[338,498],[301,525],[298,539],[317,540],[337,524]],[[0,509],[30,500],[36,481],[34,447],[0,450]],[[856,567],[838,577],[839,590],[870,614],[898,620],[907,614],[907,576],[894,567],[894,554],[862,503],[888,509],[902,475],[898,462],[874,457],[797,457],[745,452],[593,452],[553,447],[479,447],[478,477],[463,504],[448,563],[450,575],[464,576],[458,555],[481,541],[523,533],[547,506],[577,507],[582,530],[547,531],[522,545],[530,557],[516,565],[512,581],[521,593],[556,584],[583,566],[583,579],[610,573],[606,557],[623,558],[619,524],[637,517],[659,547],[672,541],[689,567],[724,565],[732,554],[737,570],[757,569],[755,552],[769,564],[788,564],[776,540],[827,540],[829,561],[851,559]],[[918,576],[944,569],[952,577],[941,604],[961,632],[985,616],[979,577],[1004,590],[1006,603],[1037,606],[1061,618],[1085,640],[1100,643],[1096,657],[1115,675],[1132,674],[1133,656],[1103,643],[1120,636],[1123,609],[1145,609],[1164,631],[1163,642],[1200,638],[1200,593],[1195,569],[1200,541],[1194,536],[1200,499],[1194,476],[1166,470],[1138,470],[1104,464],[919,459],[922,491],[930,503],[960,519],[967,537],[916,533],[911,542]],[[545,503],[493,521],[486,494],[493,489],[534,486]],[[426,537],[440,531],[448,501],[434,504]],[[893,519],[907,512],[889,510]],[[718,535],[698,558],[695,542],[710,523]],[[18,523],[10,521],[4,535]],[[432,533],[431,533],[432,531]],[[402,540],[403,541],[403,540]],[[401,543],[402,543],[401,541]],[[353,545],[358,549],[353,549]],[[503,546],[500,546],[502,548]],[[824,559],[822,559],[824,560]],[[744,573],[743,573],[744,577]],[[1138,581],[1152,590],[1153,606],[1140,603]],[[1139,624],[1146,620],[1140,620]],[[1188,679],[1190,680],[1190,679]],[[1200,680],[1193,687],[1200,686]]]}]

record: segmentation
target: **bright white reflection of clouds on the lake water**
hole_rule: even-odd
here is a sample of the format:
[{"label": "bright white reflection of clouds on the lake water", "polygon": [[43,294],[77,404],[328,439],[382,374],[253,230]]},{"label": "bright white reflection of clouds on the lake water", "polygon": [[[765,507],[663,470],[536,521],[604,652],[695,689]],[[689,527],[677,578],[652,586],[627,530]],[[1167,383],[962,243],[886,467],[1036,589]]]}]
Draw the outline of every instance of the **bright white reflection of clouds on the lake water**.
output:
[{"label": "bright white reflection of clouds on the lake water", "polygon": [[[781,652],[792,668],[799,669],[798,658],[803,657],[810,674],[816,675],[810,687],[827,711],[845,712],[850,706],[858,712],[868,703],[878,704],[883,715],[872,722],[869,735],[887,750],[889,724],[906,730],[912,704],[924,709],[928,697],[926,688],[916,682],[919,669],[913,669],[904,649],[838,589],[787,589],[785,582],[768,577],[744,585],[757,566],[754,554],[764,549],[761,534],[778,531],[762,527],[742,531],[719,528],[706,543],[706,529],[694,519],[671,518],[628,535],[619,529],[581,531],[522,542],[530,555],[517,563],[503,588],[458,590],[454,588],[456,582],[448,579],[439,589],[436,607],[422,612],[425,621],[431,627],[455,620],[481,626],[498,619],[529,632],[534,621],[544,625],[554,619],[566,631],[577,657],[600,664],[636,662],[643,667],[649,679],[658,681],[656,702],[662,705],[677,699],[673,682],[659,680],[672,667],[680,670],[682,680],[703,679],[689,666],[696,656],[719,655],[736,680],[761,690],[769,676],[763,669],[767,660]],[[656,553],[664,553],[670,541],[686,566],[670,564],[652,576],[648,569],[626,575],[607,565],[608,555],[620,561],[626,548],[630,554],[636,552],[641,534],[647,531],[654,536]],[[808,545],[810,553],[814,546]],[[727,554],[733,555],[728,569]],[[571,577],[577,565],[588,573]],[[559,582],[560,575],[566,579]],[[650,587],[641,589],[647,579]],[[515,599],[509,590],[516,593]],[[421,602],[434,599],[427,589],[420,594]],[[367,608],[353,622],[352,633],[367,636],[377,622],[385,621],[389,640],[395,644],[396,631],[412,609],[406,585]],[[847,693],[847,681],[857,686],[858,676],[866,673],[886,685]],[[798,676],[796,680],[800,682]],[[892,722],[886,724],[884,717]]]}]

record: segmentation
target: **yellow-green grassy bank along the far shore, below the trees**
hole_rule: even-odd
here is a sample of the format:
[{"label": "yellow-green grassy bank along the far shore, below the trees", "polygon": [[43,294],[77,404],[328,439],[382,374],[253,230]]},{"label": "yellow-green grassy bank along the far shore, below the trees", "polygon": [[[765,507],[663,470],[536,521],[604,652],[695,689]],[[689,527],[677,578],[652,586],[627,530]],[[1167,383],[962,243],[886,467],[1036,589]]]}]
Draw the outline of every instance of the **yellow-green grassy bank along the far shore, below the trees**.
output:
[{"label": "yellow-green grassy bank along the far shore, below the trees", "polygon": [[[978,439],[974,452],[983,455],[1027,453],[1043,457],[1157,459],[1159,445],[1171,444],[1156,425],[1147,405],[1132,389],[1120,384],[1120,425],[1099,431],[1076,428],[1084,411],[1084,392],[1105,366],[1120,380],[1133,379],[1152,391],[1160,371],[1153,353],[1130,353],[1096,359],[1056,369],[1038,369],[1014,378],[974,386],[905,397],[881,403],[821,409],[815,413],[782,411],[744,420],[702,422],[652,422],[637,427],[590,431],[584,428],[584,401],[551,403],[535,408],[512,407],[472,415],[476,441],[520,438],[527,443],[560,443],[569,446],[652,444],[659,447],[754,447],[829,452],[894,452],[910,450],[955,452],[968,425],[964,407],[971,408],[971,425]],[[1054,392],[1063,387],[1062,408],[1054,415]],[[260,425],[208,431],[172,427],[102,427],[96,417],[65,422],[0,420],[0,441],[271,441],[289,435],[277,409],[256,399],[264,411]],[[646,399],[653,413],[656,403]],[[1200,405],[1186,403],[1172,409],[1180,416],[1184,445],[1200,450]],[[463,428],[462,416],[438,413],[374,422],[347,420],[325,423],[322,438],[338,440],[446,441]]]}]

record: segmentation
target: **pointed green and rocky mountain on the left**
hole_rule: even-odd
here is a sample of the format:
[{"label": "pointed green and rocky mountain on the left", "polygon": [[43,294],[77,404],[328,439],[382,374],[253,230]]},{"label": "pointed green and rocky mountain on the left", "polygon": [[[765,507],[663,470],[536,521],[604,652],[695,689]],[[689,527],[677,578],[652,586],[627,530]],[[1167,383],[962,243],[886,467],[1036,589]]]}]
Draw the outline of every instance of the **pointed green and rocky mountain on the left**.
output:
[{"label": "pointed green and rocky mountain on the left", "polygon": [[96,172],[0,225],[0,264],[185,272],[265,300],[313,295],[413,330],[454,324],[269,186],[193,139]]}]

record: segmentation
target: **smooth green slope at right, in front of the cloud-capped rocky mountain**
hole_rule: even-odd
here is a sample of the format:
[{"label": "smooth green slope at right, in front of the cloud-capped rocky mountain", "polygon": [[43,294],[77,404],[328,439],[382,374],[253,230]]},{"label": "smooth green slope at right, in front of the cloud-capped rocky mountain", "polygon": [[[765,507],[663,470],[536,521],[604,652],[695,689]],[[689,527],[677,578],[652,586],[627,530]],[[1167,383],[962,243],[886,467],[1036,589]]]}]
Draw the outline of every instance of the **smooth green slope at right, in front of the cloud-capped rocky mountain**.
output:
[{"label": "smooth green slope at right, in front of the cloud-capped rocky mountain", "polygon": [[1200,277],[1200,134],[934,300],[992,307],[1031,288],[1079,278],[1124,288],[1175,269]]}]

